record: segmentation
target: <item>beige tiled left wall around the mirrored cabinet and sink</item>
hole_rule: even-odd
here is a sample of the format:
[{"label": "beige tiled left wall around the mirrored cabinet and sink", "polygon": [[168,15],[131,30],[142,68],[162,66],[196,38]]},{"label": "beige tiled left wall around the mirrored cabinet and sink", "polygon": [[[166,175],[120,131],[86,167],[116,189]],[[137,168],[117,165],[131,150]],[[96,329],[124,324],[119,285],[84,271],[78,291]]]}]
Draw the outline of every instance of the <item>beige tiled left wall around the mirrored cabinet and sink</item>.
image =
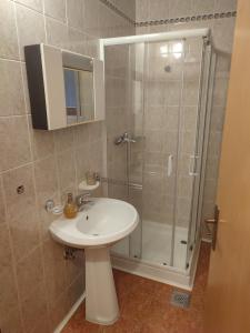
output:
[{"label": "beige tiled left wall around the mirrored cabinet and sink", "polygon": [[[102,123],[32,130],[23,46],[47,42],[97,56],[97,38],[134,34],[106,1],[0,1],[0,329],[49,333],[83,291],[82,253],[63,260],[44,201],[77,192],[86,170],[102,171]],[[132,1],[116,1],[134,17]],[[22,194],[17,189],[24,188]],[[97,193],[98,194],[98,193]]]}]

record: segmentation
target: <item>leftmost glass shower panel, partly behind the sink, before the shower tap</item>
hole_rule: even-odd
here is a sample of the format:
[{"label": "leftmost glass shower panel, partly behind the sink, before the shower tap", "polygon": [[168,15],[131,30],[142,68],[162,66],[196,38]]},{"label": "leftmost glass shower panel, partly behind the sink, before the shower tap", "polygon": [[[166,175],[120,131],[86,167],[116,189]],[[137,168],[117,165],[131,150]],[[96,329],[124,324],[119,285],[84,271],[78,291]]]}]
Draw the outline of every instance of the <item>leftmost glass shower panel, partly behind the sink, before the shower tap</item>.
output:
[{"label": "leftmost glass shower panel, partly behind the sink, before the shower tap", "polygon": [[[136,57],[143,44],[109,46],[104,50],[107,94],[107,171],[108,195],[133,204],[141,211],[142,181],[140,172],[140,147],[142,119],[134,108]],[[143,110],[143,108],[141,107]],[[136,112],[137,111],[137,112]],[[131,142],[114,144],[117,138],[128,133]],[[134,141],[134,142],[133,142]],[[122,256],[140,258],[141,225],[112,246],[112,252]]]}]

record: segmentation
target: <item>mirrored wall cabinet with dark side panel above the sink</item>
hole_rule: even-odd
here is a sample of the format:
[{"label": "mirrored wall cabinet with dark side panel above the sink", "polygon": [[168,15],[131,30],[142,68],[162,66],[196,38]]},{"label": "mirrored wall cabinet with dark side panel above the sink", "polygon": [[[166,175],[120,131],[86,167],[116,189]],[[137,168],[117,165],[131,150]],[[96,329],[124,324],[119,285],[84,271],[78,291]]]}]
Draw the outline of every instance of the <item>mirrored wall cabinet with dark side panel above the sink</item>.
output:
[{"label": "mirrored wall cabinet with dark side panel above the sink", "polygon": [[104,120],[102,61],[48,44],[27,46],[24,54],[34,129]]}]

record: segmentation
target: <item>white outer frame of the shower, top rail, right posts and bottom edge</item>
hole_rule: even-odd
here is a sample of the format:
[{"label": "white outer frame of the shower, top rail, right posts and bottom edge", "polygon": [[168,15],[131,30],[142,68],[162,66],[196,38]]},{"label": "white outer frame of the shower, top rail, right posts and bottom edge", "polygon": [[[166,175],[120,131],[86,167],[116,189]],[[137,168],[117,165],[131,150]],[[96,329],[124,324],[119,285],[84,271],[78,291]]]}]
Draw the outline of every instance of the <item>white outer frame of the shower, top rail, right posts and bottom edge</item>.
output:
[{"label": "white outer frame of the shower, top rail, right posts and bottom edge", "polygon": [[[179,30],[179,31],[169,31],[162,33],[150,33],[150,34],[140,34],[140,36],[129,36],[129,37],[118,37],[118,38],[107,38],[100,39],[99,41],[99,51],[100,59],[104,61],[104,48],[108,46],[122,46],[122,44],[136,44],[140,42],[160,42],[160,41],[171,41],[178,39],[187,39],[187,38],[203,38],[204,44],[208,49],[206,49],[207,53],[207,68],[201,68],[201,79],[206,87],[202,89],[202,92],[206,91],[206,95],[202,99],[200,95],[200,108],[204,108],[204,119],[202,120],[203,127],[203,135],[202,138],[198,138],[198,145],[202,145],[203,153],[202,159],[200,161],[200,181],[197,188],[198,191],[198,200],[199,206],[197,208],[197,221],[196,223],[196,238],[198,238],[196,242],[194,250],[190,253],[187,249],[187,258],[189,258],[190,265],[186,271],[177,269],[174,266],[162,266],[160,264],[156,264],[152,262],[147,262],[144,260],[127,258],[123,255],[112,255],[112,264],[114,268],[133,273],[140,276],[149,278],[156,281],[160,281],[163,283],[172,284],[176,286],[180,286],[187,290],[191,290],[193,285],[197,261],[200,249],[200,234],[197,232],[201,220],[201,206],[202,206],[202,196],[203,196],[203,186],[204,186],[204,170],[206,170],[206,161],[207,161],[207,149],[208,149],[208,140],[209,140],[209,124],[211,118],[211,100],[213,93],[213,80],[214,80],[214,63],[216,63],[216,48],[212,44],[212,38],[210,33],[210,29],[191,29],[191,30]],[[104,179],[107,178],[107,161],[104,161]],[[190,223],[191,225],[191,223]],[[189,233],[191,232],[191,228],[189,228]]]}]

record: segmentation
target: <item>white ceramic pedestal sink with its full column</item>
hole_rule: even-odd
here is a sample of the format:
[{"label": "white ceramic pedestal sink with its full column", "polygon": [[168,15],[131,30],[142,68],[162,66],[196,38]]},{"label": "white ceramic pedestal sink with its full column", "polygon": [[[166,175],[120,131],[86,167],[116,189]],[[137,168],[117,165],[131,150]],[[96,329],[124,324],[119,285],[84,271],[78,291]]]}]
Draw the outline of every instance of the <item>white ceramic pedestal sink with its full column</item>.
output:
[{"label": "white ceramic pedestal sink with its full column", "polygon": [[86,319],[110,325],[119,306],[110,262],[110,246],[129,235],[139,223],[137,210],[114,199],[91,199],[76,219],[61,216],[52,222],[52,238],[66,245],[84,249]]}]

